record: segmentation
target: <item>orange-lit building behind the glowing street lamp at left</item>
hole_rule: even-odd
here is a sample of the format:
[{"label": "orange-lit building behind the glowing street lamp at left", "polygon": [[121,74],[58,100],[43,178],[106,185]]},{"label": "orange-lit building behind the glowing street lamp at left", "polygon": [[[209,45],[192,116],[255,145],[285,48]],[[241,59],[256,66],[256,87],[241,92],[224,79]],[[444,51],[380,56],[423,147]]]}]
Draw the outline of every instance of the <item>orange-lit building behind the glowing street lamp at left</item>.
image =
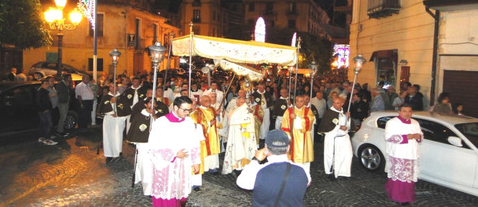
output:
[{"label": "orange-lit building behind the glowing street lamp at left", "polygon": [[[122,54],[116,72],[136,75],[138,72],[151,71],[151,59],[148,46],[154,41],[161,41],[164,46],[170,44],[171,33],[179,34],[179,28],[166,23],[168,19],[148,12],[150,1],[100,1],[97,6],[98,34],[98,75],[101,72],[113,73],[109,52],[117,48]],[[44,10],[48,3],[42,3]],[[76,4],[69,2],[64,10],[72,10]],[[66,13],[66,12],[65,12]],[[67,20],[69,21],[69,20]],[[88,19],[83,18],[75,30],[64,30],[62,63],[79,70],[92,73],[93,70],[93,30]],[[56,62],[57,31],[52,30],[53,44],[50,47],[24,50],[24,67],[32,66],[38,61]],[[167,58],[166,52],[166,58]],[[171,68],[179,67],[179,59],[172,58]],[[166,68],[163,61],[160,70]],[[27,68],[26,68],[27,69]]]}]

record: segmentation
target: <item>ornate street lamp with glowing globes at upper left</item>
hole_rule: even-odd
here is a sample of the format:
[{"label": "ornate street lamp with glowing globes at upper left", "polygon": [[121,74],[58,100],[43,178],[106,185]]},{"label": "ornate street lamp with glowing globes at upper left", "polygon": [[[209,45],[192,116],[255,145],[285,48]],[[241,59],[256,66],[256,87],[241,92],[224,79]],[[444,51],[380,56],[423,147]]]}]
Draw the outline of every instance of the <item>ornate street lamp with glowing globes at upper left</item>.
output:
[{"label": "ornate street lamp with glowing globes at upper left", "polygon": [[46,22],[48,22],[52,30],[58,30],[58,60],[57,60],[57,74],[62,73],[62,45],[63,45],[63,30],[74,30],[81,21],[82,14],[75,8],[70,12],[71,23],[65,23],[63,18],[63,8],[67,4],[67,0],[55,0],[55,7],[50,7],[44,12]]}]

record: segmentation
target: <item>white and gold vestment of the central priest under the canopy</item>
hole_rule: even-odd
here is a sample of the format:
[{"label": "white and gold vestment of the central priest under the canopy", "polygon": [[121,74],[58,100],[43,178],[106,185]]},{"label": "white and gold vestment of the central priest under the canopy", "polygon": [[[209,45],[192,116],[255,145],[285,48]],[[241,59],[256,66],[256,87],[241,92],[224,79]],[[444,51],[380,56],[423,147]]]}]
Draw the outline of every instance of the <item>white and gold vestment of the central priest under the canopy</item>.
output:
[{"label": "white and gold vestment of the central priest under the canopy", "polygon": [[[229,136],[222,174],[229,174],[235,169],[242,170],[242,159],[252,159],[257,151],[254,115],[249,112],[247,104],[231,110],[229,116]],[[249,137],[242,134],[246,132]]]}]

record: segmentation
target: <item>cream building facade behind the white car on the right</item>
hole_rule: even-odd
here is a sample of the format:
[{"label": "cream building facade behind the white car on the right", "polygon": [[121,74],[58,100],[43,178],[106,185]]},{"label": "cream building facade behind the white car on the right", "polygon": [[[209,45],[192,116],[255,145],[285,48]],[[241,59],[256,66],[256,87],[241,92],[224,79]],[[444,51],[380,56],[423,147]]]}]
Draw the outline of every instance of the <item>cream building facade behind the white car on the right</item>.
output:
[{"label": "cream building facade behind the white car on the right", "polygon": [[355,0],[351,57],[369,61],[357,81],[372,87],[379,81],[395,88],[402,81],[418,84],[425,108],[450,92],[452,103],[463,103],[468,115],[478,117],[478,93],[467,90],[478,87],[470,78],[478,75],[477,27],[476,1]]}]

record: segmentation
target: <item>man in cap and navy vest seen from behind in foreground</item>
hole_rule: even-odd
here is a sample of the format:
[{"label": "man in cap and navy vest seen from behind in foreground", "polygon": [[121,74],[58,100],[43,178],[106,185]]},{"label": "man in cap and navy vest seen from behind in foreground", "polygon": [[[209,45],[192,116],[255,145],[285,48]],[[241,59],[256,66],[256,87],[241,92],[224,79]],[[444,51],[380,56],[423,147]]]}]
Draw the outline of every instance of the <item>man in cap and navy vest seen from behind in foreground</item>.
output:
[{"label": "man in cap and navy vest seen from behind in foreground", "polygon": [[[253,206],[303,206],[303,196],[310,185],[310,175],[301,164],[287,158],[290,141],[282,130],[267,132],[265,148],[245,166],[236,184],[254,190]],[[266,164],[259,164],[267,157]]]}]

